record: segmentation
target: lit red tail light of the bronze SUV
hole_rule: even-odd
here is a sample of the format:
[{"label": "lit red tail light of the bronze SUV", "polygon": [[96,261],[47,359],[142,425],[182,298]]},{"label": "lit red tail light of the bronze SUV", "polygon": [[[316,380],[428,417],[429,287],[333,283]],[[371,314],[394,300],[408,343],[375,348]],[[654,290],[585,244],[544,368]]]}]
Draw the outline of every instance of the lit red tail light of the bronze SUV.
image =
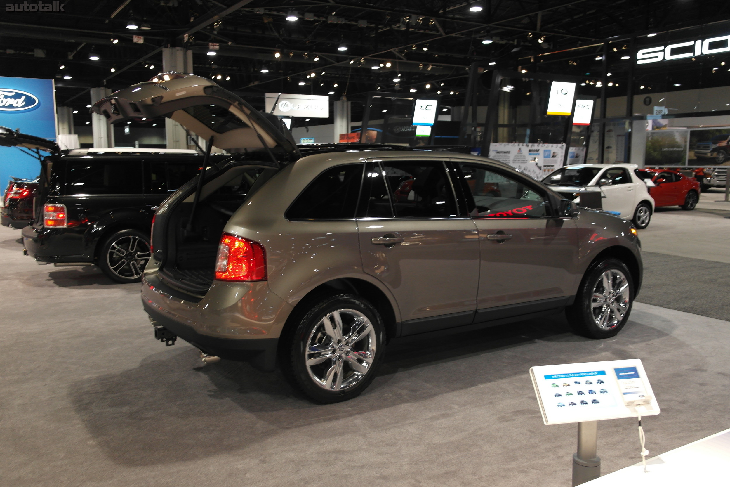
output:
[{"label": "lit red tail light of the bronze SUV", "polygon": [[221,235],[215,261],[215,278],[229,281],[266,280],[264,245],[236,235]]}]

